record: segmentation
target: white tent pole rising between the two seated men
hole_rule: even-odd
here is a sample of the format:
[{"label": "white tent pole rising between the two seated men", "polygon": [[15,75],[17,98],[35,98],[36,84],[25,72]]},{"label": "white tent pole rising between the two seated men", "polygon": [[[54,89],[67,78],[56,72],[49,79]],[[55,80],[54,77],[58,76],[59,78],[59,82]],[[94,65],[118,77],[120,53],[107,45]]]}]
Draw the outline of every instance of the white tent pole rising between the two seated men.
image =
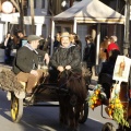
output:
[{"label": "white tent pole rising between the two seated men", "polygon": [[52,56],[53,52],[53,40],[55,40],[55,21],[51,21],[51,50],[50,50],[50,56]]}]

